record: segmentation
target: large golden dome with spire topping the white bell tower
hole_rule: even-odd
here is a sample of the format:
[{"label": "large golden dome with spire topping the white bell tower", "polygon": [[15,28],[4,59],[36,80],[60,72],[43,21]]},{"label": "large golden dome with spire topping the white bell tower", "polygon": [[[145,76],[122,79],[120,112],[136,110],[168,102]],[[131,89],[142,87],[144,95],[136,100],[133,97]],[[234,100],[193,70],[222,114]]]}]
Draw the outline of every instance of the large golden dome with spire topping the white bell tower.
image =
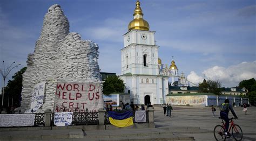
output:
[{"label": "large golden dome with spire topping the white bell tower", "polygon": [[140,2],[136,2],[136,8],[133,14],[133,20],[128,25],[128,30],[149,30],[149,23],[143,19],[142,9]]}]

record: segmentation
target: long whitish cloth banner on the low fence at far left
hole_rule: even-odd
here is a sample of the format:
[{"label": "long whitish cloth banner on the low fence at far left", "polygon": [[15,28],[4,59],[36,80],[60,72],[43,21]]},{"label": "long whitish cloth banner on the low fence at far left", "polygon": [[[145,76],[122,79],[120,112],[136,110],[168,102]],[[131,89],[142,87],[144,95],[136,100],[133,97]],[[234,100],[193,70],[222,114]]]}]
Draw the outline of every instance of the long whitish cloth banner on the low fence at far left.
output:
[{"label": "long whitish cloth banner on the low fence at far left", "polygon": [[0,126],[33,126],[35,114],[0,114]]}]

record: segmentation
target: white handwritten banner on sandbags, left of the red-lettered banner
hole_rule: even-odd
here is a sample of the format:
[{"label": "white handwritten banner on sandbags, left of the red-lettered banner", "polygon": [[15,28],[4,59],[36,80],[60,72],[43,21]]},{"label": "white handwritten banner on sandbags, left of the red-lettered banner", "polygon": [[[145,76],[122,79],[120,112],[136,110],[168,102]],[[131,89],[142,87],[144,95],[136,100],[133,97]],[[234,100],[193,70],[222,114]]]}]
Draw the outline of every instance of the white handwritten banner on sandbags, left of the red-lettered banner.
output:
[{"label": "white handwritten banner on sandbags, left of the red-lettered banner", "polygon": [[30,104],[30,109],[26,110],[25,113],[36,112],[44,103],[44,92],[45,92],[45,82],[37,83],[32,91],[32,100]]}]

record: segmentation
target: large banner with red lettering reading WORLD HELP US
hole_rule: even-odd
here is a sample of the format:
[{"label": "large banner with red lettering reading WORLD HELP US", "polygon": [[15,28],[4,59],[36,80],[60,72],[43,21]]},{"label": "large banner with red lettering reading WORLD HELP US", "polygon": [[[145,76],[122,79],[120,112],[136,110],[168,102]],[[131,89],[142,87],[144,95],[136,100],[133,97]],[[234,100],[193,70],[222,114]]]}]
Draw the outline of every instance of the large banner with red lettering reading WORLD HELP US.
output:
[{"label": "large banner with red lettering reading WORLD HELP US", "polygon": [[103,104],[101,83],[57,83],[54,112],[98,111]]}]

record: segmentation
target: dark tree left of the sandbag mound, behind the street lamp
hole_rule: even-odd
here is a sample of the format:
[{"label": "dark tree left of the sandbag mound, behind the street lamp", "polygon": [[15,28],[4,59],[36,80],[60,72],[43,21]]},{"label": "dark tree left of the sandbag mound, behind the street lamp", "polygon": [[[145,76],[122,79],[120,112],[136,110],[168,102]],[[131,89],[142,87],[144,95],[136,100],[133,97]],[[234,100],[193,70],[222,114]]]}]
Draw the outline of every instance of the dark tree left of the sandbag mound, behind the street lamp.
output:
[{"label": "dark tree left of the sandbag mound, behind the street lamp", "polygon": [[21,70],[15,73],[14,76],[12,76],[12,80],[8,81],[8,84],[4,89],[4,94],[6,94],[4,97],[5,107],[8,105],[8,97],[10,98],[10,105],[11,100],[13,99],[13,105],[17,107],[19,106],[19,100],[22,92],[22,74],[25,72],[25,70],[26,67],[23,67]]}]

